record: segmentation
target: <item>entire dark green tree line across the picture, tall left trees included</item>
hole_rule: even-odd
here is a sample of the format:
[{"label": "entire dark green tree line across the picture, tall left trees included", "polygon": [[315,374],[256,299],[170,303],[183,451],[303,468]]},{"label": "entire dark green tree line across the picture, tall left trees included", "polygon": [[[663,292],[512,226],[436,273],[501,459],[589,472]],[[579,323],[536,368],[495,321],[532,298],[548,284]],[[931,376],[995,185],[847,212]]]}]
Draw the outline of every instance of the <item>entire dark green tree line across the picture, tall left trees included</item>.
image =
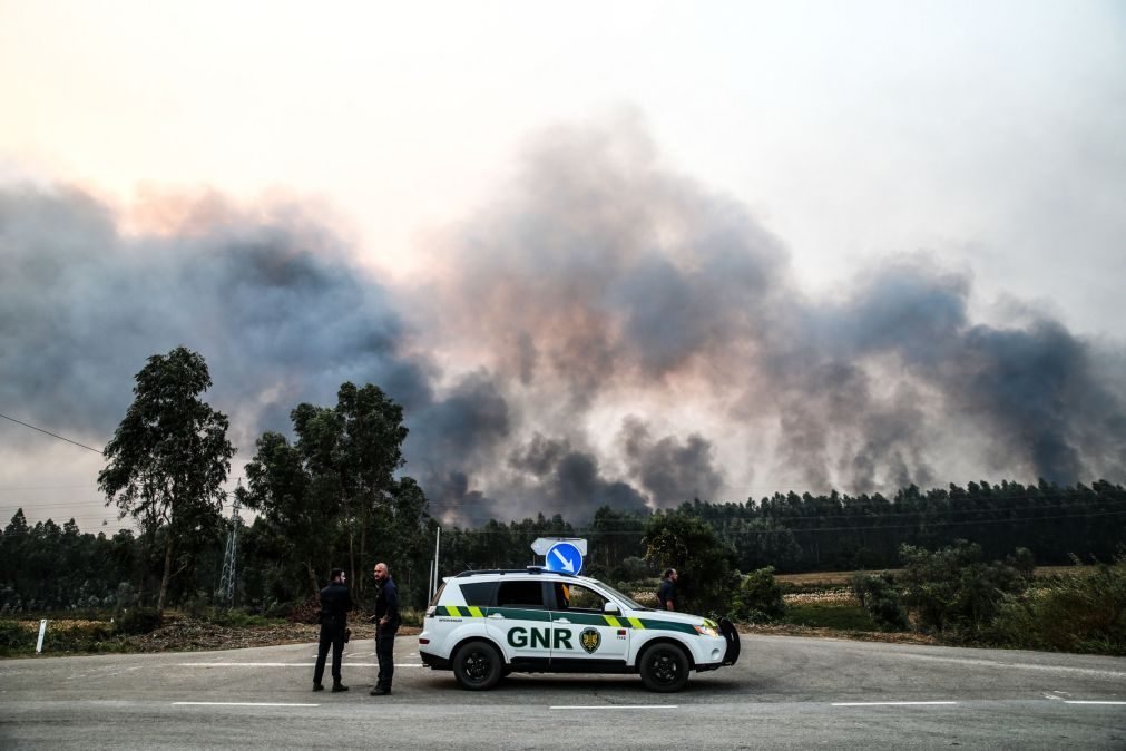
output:
[{"label": "entire dark green tree line across the picture, tall left trees included", "polygon": [[[222,488],[234,452],[226,417],[200,399],[209,386],[196,352],[181,347],[149,358],[99,474],[107,506],[132,517],[136,530],[107,537],[83,534],[73,520],[30,526],[17,511],[0,535],[0,610],[231,605],[216,590],[232,524],[222,516]],[[403,473],[402,408],[378,386],[345,383],[334,405],[302,403],[291,419],[292,439],[272,431],[257,439],[247,483],[235,491],[257,518],[239,531],[234,604],[284,615],[314,597],[334,566],[348,571],[365,602],[377,556],[392,564],[404,601],[423,606],[438,521],[423,489]],[[730,590],[724,578],[738,572],[899,567],[904,549],[958,540],[990,560],[1024,547],[1039,565],[1109,561],[1126,546],[1124,517],[1126,490],[1106,481],[695,499],[658,512],[604,507],[591,519],[556,513],[446,528],[438,573],[522,567],[536,563],[537,537],[584,537],[584,573],[620,583],[685,569],[686,591],[720,607],[716,598]],[[712,591],[721,579],[726,583]]]}]

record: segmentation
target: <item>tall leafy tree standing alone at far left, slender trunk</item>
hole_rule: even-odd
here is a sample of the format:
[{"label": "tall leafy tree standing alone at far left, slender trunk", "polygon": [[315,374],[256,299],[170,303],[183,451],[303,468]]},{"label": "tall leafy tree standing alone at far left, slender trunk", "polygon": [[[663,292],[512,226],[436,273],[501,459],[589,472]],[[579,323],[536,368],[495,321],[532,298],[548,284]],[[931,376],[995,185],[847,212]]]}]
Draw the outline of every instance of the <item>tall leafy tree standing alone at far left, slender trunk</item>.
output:
[{"label": "tall leafy tree standing alone at far left, slender trunk", "polygon": [[[234,447],[226,439],[226,415],[199,399],[211,385],[204,358],[185,347],[150,357],[98,474],[106,506],[116,503],[122,516],[155,519],[166,530],[160,614],[169,581],[191,563],[194,542],[221,524],[222,485]],[[184,561],[173,572],[178,548]]]}]

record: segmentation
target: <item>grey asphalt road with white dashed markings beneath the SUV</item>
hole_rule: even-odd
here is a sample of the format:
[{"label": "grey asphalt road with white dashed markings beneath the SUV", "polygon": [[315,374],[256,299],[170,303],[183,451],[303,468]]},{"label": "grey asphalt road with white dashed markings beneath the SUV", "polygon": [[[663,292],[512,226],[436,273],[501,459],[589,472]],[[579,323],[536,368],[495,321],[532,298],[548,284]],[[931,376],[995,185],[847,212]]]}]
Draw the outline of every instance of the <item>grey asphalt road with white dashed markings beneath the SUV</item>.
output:
[{"label": "grey asphalt road with white dashed markings beneath the SUV", "polygon": [[[1126,659],[743,636],[681,694],[636,676],[512,676],[489,692],[396,645],[369,697],[313,694],[315,645],[0,662],[0,748],[1126,749]],[[328,676],[325,676],[328,678]]]}]

